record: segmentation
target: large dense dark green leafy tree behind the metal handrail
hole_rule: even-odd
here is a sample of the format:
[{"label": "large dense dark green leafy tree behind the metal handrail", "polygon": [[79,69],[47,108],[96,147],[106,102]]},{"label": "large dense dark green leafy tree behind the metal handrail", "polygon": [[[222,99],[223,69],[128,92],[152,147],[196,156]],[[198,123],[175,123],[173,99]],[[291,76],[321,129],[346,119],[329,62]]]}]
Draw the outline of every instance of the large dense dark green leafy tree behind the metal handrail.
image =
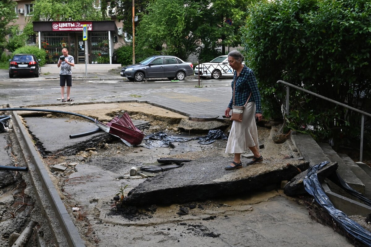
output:
[{"label": "large dense dark green leafy tree behind the metal handrail", "polygon": [[[370,111],[370,1],[264,0],[250,8],[242,33],[265,116],[282,116],[280,79]],[[349,137],[360,133],[358,114],[299,91],[290,94],[289,111],[291,128],[320,139],[339,126]]]}]

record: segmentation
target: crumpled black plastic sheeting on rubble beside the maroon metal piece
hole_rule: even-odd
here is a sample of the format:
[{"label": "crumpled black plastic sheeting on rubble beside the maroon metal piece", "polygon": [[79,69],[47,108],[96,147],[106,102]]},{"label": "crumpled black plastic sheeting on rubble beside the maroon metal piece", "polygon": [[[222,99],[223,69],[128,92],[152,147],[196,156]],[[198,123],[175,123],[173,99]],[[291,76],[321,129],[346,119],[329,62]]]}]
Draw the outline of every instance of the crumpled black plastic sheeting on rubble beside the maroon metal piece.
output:
[{"label": "crumpled black plastic sheeting on rubble beside the maroon metal piece", "polygon": [[227,136],[220,129],[213,130],[211,129],[209,133],[205,136],[193,137],[193,138],[184,138],[177,136],[168,136],[165,132],[157,132],[151,135],[147,135],[143,138],[142,146],[144,148],[164,148],[170,146],[170,142],[187,142],[191,140],[200,140],[199,144],[210,144],[216,141],[217,139],[228,139]]}]

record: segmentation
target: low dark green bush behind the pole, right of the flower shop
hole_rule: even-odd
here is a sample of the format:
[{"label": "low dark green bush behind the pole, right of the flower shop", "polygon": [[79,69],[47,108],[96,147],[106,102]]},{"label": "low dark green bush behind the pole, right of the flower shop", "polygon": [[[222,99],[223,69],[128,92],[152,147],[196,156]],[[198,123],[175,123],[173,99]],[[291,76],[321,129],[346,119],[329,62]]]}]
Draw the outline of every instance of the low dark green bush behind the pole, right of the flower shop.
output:
[{"label": "low dark green bush behind the pole, right of the flower shop", "polygon": [[[130,45],[123,45],[115,50],[117,56],[117,62],[121,65],[131,65],[133,62],[133,47]],[[160,55],[160,52],[153,49],[138,49],[135,50],[135,62],[138,63],[145,58],[153,55]]]}]

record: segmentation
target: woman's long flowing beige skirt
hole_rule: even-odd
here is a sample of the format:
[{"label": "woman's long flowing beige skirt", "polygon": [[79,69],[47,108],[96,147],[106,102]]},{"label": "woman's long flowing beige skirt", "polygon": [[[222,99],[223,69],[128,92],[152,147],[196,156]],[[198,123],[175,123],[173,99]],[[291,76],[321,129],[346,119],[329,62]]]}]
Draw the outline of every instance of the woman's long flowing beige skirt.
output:
[{"label": "woman's long flowing beige skirt", "polygon": [[259,149],[255,111],[255,102],[247,103],[243,111],[242,122],[233,121],[226,147],[227,154],[241,154],[247,147],[252,146]]}]

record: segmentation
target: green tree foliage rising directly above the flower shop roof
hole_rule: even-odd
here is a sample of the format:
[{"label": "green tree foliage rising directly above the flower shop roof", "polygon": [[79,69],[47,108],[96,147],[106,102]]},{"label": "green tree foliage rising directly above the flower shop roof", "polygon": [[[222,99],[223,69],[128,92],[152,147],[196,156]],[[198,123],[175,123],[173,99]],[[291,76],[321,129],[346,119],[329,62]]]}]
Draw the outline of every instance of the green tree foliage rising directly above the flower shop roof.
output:
[{"label": "green tree foliage rising directly above the flower shop roof", "polygon": [[37,0],[33,2],[31,21],[105,20],[94,0]]}]

